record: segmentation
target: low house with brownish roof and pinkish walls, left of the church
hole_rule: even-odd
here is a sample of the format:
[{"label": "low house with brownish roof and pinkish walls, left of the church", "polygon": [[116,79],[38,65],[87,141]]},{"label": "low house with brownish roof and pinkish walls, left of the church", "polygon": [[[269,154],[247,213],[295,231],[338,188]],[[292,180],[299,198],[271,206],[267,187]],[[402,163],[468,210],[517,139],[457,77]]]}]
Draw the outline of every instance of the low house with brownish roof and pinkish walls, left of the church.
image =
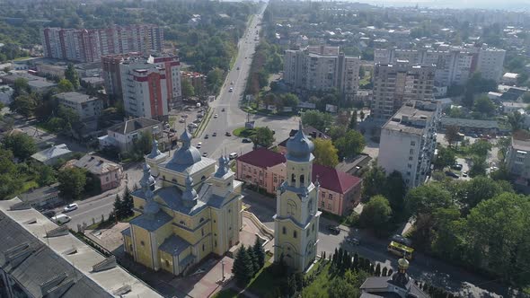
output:
[{"label": "low house with brownish roof and pinkish walls, left of the church", "polygon": [[102,191],[118,188],[123,171],[119,164],[110,162],[100,156],[84,155],[74,163],[76,168],[85,169],[100,180]]}]

